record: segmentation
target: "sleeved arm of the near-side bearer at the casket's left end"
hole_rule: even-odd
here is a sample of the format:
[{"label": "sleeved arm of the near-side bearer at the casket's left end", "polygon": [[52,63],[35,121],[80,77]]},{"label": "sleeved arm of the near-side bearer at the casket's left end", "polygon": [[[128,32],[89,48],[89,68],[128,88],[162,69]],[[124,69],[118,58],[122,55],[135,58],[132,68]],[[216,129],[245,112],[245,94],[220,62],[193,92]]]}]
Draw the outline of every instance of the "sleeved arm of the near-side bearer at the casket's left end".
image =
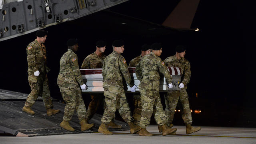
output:
[{"label": "sleeved arm of the near-side bearer at the casket's left end", "polygon": [[74,72],[76,81],[80,84],[80,86],[82,86],[84,84],[84,82],[82,80],[81,72],[79,70],[77,56],[76,55],[70,55],[69,59],[70,59],[71,68]]}]

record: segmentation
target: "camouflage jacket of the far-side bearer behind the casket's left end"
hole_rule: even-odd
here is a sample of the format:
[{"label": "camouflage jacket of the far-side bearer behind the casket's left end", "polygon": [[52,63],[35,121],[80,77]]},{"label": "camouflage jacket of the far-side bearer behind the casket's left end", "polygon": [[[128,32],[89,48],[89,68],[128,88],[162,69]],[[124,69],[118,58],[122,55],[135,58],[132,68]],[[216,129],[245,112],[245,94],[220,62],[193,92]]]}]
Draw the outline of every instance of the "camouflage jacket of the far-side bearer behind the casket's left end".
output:
[{"label": "camouflage jacket of the far-side bearer behind the casket's left end", "polygon": [[89,68],[102,68],[103,61],[106,58],[105,54],[98,56],[96,52],[90,54],[84,59],[84,62],[81,68],[89,69]]}]

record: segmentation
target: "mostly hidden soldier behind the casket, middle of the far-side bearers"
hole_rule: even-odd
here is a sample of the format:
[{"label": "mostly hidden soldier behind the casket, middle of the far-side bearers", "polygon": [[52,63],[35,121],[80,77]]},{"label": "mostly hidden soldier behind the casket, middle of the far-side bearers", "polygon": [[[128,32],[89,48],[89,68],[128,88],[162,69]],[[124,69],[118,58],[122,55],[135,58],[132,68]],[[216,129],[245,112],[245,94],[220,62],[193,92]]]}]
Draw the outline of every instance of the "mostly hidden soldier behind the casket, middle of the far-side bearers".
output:
[{"label": "mostly hidden soldier behind the casket, middle of the far-side bearers", "polygon": [[[146,54],[150,54],[151,48],[150,45],[144,44],[141,47],[141,54],[140,56],[137,56],[136,58],[132,59],[129,63],[129,68],[136,67],[137,64],[140,62],[142,56]],[[133,117],[134,117],[134,124],[139,125],[140,124],[140,114],[141,114],[141,99],[139,93],[133,94],[133,102],[134,102],[134,111],[133,111]]]}]

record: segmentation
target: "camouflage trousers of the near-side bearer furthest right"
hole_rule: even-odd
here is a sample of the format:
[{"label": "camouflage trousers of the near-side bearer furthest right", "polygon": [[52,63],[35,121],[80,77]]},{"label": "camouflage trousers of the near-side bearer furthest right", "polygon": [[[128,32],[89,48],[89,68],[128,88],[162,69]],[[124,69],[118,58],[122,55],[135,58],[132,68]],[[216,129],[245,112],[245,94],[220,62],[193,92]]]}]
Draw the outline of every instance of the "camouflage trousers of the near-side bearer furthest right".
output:
[{"label": "camouflage trousers of the near-side bearer furthest right", "polygon": [[140,95],[142,104],[140,127],[146,128],[150,124],[152,114],[158,125],[162,126],[166,124],[166,115],[159,92],[156,90],[140,89]]}]

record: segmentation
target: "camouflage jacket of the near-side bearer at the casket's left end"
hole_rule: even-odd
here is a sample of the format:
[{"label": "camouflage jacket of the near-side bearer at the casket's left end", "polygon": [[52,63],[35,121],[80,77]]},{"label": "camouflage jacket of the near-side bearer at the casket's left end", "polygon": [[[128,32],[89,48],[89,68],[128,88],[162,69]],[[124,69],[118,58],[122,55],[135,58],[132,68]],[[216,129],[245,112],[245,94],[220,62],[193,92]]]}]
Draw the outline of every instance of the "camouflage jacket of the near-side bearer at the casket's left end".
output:
[{"label": "camouflage jacket of the near-side bearer at the casket's left end", "polygon": [[60,58],[60,73],[57,83],[80,84],[80,86],[84,84],[77,62],[77,56],[73,50],[68,49],[68,52]]}]

